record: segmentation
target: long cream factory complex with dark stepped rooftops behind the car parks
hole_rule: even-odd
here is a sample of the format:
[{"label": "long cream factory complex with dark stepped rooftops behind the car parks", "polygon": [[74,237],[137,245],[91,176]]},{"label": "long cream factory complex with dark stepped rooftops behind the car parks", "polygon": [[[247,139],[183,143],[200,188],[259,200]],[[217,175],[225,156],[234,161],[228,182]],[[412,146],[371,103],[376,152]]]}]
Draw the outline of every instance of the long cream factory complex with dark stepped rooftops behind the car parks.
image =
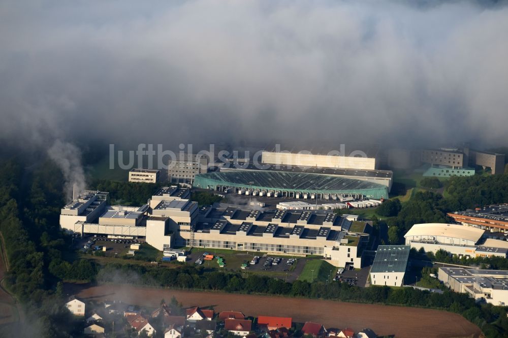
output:
[{"label": "long cream factory complex with dark stepped rooftops behind the car parks", "polygon": [[110,206],[108,193],[85,191],[60,213],[73,233],[145,239],[158,250],[173,246],[320,255],[336,266],[362,266],[371,226],[333,211],[250,210],[235,205],[198,208],[189,190],[161,188],[141,207]]}]

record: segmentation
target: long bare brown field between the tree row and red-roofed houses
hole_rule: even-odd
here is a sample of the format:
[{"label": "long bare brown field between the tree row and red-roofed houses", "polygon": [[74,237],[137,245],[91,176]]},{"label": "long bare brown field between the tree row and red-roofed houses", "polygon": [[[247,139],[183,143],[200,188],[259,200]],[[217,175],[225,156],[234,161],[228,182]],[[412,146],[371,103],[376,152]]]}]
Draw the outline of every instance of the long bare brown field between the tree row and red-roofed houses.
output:
[{"label": "long bare brown field between the tree row and red-roofed houses", "polygon": [[293,321],[315,321],[325,327],[373,329],[378,335],[398,337],[480,337],[478,326],[444,311],[346,303],[332,300],[186,292],[128,285],[66,285],[66,291],[87,300],[117,299],[156,307],[162,298],[175,296],[184,307],[213,307],[215,311],[238,310],[249,316],[287,316]]}]

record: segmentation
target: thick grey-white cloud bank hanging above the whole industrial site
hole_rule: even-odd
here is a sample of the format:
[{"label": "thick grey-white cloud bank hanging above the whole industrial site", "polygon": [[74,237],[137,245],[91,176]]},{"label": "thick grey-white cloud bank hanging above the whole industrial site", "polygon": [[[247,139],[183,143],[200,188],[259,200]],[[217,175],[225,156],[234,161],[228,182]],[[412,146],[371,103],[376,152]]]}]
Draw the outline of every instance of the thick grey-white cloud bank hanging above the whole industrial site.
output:
[{"label": "thick grey-white cloud bank hanging above the whole industrial site", "polygon": [[506,145],[506,32],[459,1],[4,0],[0,132]]}]

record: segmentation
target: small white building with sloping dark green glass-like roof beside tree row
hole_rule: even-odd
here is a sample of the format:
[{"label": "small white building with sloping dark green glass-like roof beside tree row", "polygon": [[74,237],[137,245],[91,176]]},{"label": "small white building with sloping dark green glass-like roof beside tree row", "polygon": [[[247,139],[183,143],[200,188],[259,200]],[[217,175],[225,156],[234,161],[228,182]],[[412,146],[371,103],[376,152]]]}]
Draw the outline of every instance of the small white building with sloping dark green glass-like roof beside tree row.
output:
[{"label": "small white building with sloping dark green glass-like roof beside tree row", "polygon": [[404,285],[410,247],[406,245],[380,245],[370,268],[372,285]]}]

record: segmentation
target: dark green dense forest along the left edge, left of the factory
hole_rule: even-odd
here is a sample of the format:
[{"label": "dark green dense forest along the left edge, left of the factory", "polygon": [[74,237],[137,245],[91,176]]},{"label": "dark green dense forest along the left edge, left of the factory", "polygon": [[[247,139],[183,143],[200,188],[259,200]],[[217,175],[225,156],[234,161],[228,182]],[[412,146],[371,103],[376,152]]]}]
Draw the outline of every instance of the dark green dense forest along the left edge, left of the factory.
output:
[{"label": "dark green dense forest along the left edge, left of the factory", "polygon": [[49,272],[51,262],[68,252],[59,229],[62,177],[46,162],[28,172],[15,161],[0,162],[0,232],[9,271],[5,286],[22,303],[25,322],[2,327],[2,336],[71,337],[74,318],[63,307],[61,283]]}]

